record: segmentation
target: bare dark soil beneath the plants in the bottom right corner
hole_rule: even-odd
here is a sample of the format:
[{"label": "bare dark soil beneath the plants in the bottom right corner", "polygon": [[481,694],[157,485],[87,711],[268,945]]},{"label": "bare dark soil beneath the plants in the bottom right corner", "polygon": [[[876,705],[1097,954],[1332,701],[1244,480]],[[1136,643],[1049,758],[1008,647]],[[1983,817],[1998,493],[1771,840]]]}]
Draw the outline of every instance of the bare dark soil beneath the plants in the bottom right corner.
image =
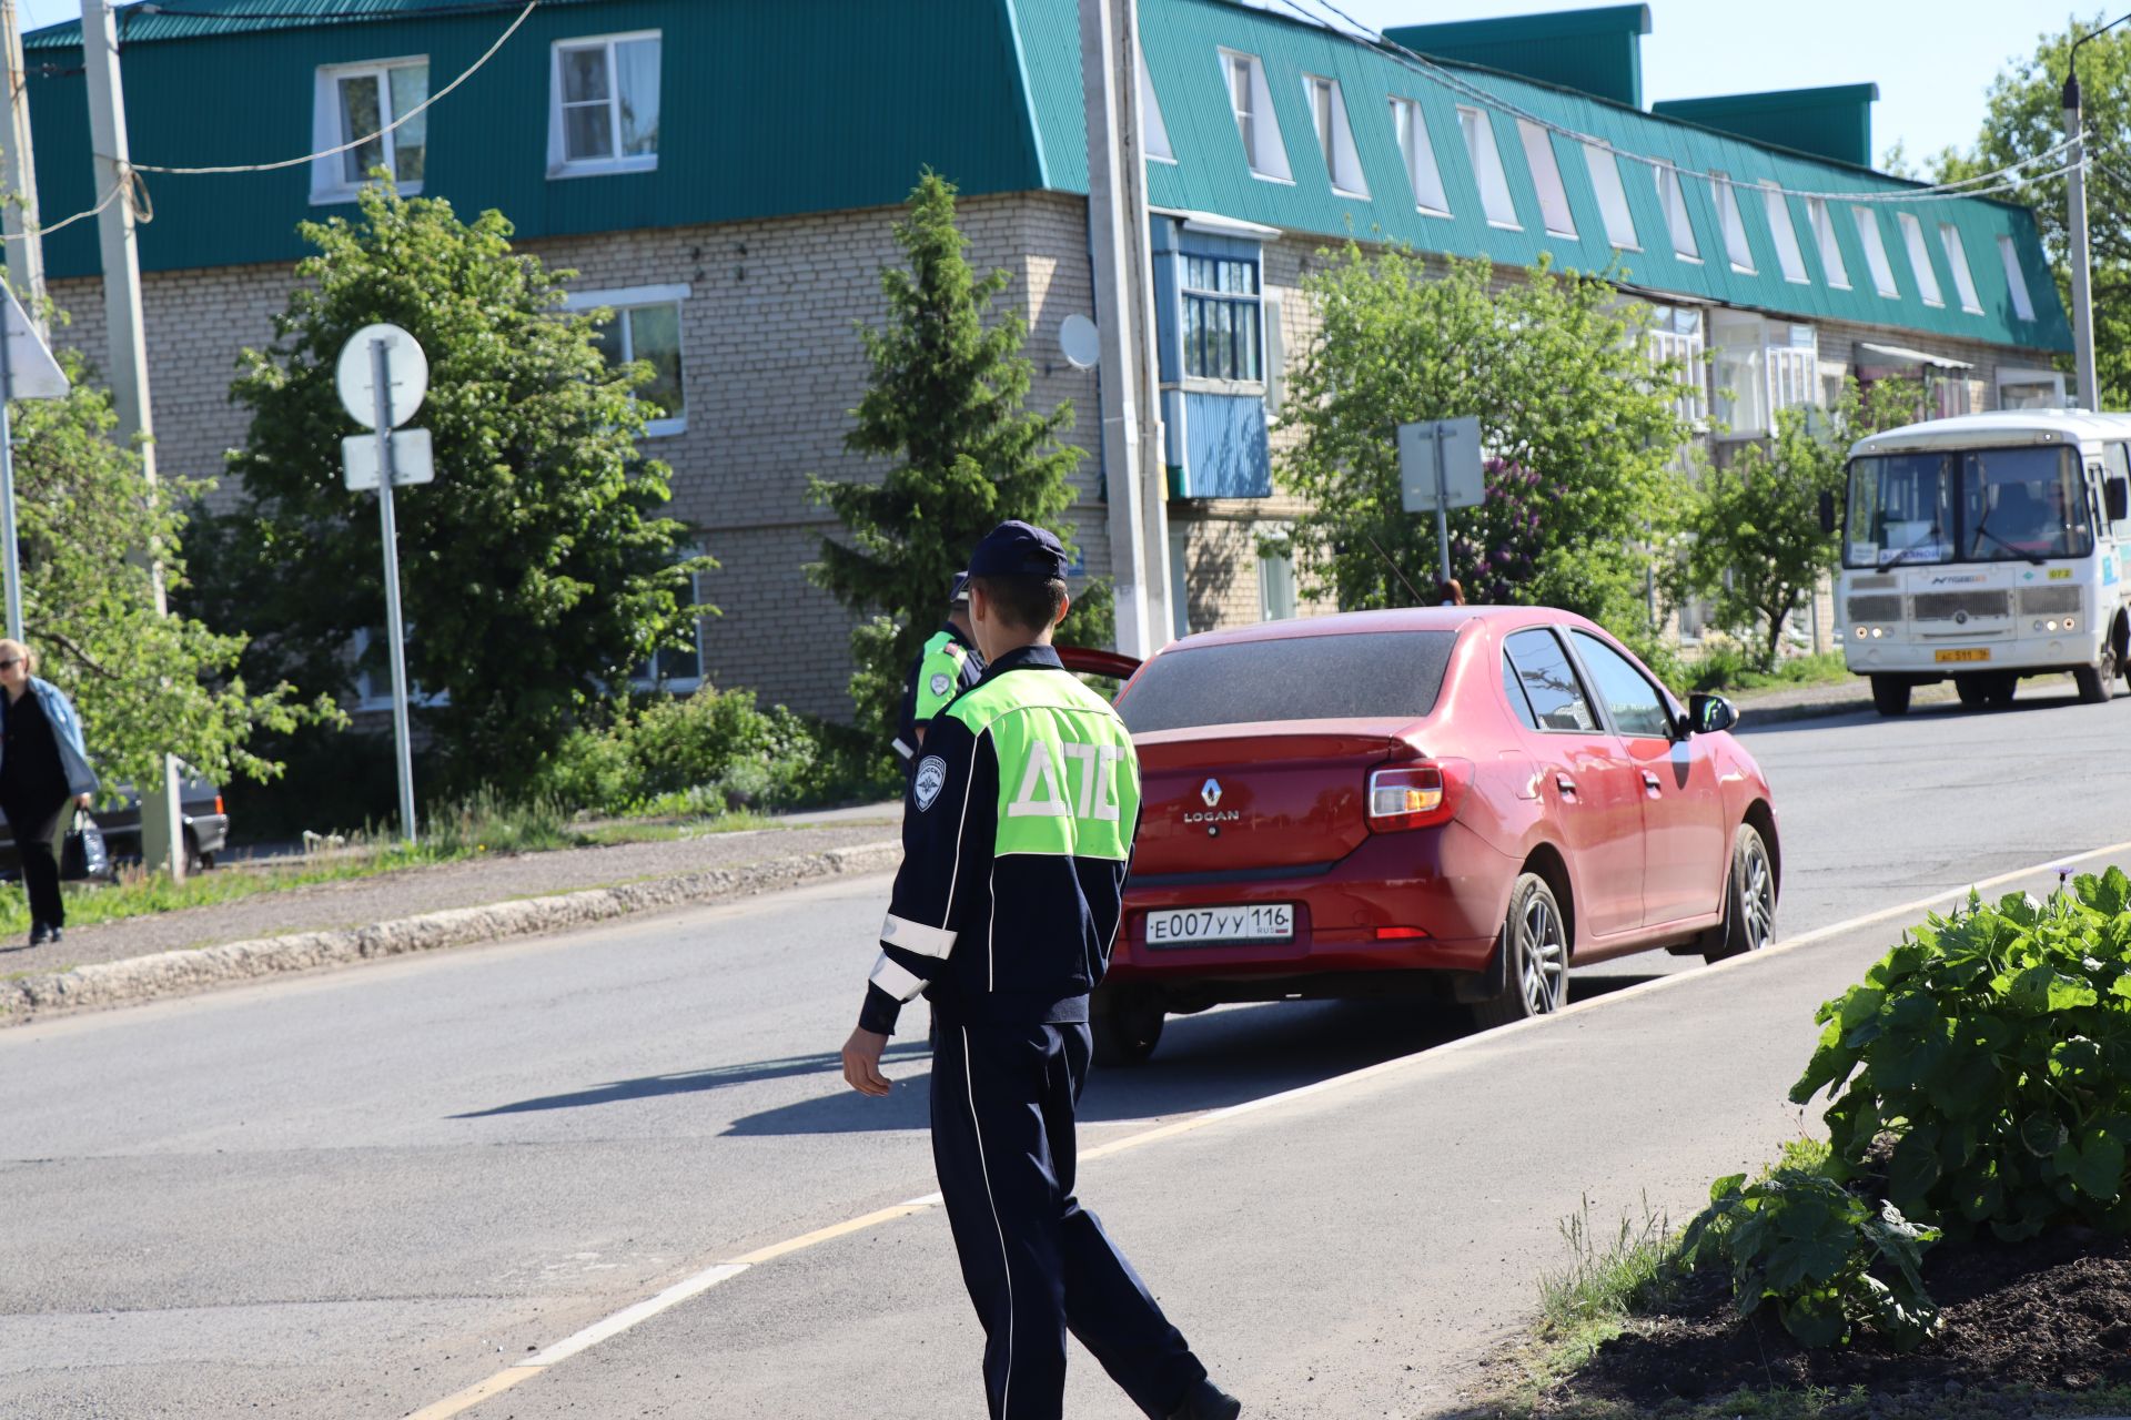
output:
[{"label": "bare dark soil beneath the plants in the bottom right corner", "polygon": [[1924,1256],[1937,1335],[1897,1352],[1871,1335],[1805,1350],[1775,1307],[1747,1320],[1722,1284],[1694,1284],[1571,1382],[1592,1399],[1656,1405],[1741,1386],[2084,1390],[2131,1384],[2131,1239],[2063,1228],[2027,1243],[1939,1243]]}]

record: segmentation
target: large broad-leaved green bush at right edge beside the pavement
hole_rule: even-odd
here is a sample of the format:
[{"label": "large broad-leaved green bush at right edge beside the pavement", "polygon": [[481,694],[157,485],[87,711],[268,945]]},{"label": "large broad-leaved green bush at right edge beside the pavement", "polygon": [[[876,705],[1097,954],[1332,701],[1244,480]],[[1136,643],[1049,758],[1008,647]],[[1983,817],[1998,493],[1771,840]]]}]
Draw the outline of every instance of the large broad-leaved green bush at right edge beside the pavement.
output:
[{"label": "large broad-leaved green bush at right edge beside the pavement", "polygon": [[2048,905],[1971,894],[1820,1007],[1820,1047],[1790,1099],[1824,1088],[1843,1177],[1873,1179],[1948,1235],[1988,1224],[2018,1241],[2071,1222],[2127,1233],[2127,945],[2120,869]]}]

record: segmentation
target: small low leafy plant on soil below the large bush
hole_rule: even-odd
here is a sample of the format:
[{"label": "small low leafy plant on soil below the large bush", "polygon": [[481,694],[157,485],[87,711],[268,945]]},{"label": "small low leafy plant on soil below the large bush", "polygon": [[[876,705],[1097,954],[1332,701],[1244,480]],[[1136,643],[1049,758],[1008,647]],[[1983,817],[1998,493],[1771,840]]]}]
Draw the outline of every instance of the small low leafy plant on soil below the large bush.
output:
[{"label": "small low leafy plant on soil below the large bush", "polygon": [[1875,1207],[1824,1173],[1782,1165],[1754,1184],[1720,1177],[1679,1237],[1679,1260],[1728,1269],[1739,1314],[1775,1303],[1801,1345],[1835,1345],[1865,1324],[1909,1350],[1937,1322],[1918,1275],[1937,1239],[1892,1203]]}]

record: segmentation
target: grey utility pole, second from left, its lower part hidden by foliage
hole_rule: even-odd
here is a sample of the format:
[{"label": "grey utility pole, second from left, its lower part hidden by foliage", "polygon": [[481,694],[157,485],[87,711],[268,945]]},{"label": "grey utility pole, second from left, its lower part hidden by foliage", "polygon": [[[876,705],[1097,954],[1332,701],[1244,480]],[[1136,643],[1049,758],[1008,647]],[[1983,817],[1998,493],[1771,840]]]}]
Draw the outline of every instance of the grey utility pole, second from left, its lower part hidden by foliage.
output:
[{"label": "grey utility pole, second from left, its lower part hidden by foliage", "polygon": [[[156,483],[156,422],[147,392],[147,332],[141,319],[141,249],[134,241],[132,194],[119,192],[132,183],[132,162],[126,147],[126,87],[119,79],[119,34],[111,17],[111,0],[81,0],[81,64],[90,81],[90,147],[96,160],[98,251],[104,266],[104,373],[111,377],[111,402],[119,426],[113,436],[141,443],[141,477]],[[141,551],[149,560],[156,615],[168,615],[162,564],[156,549]],[[141,790],[141,860],[164,869],[173,879],[185,877],[185,837],[179,824],[177,758],[160,756],[162,773]]]}]

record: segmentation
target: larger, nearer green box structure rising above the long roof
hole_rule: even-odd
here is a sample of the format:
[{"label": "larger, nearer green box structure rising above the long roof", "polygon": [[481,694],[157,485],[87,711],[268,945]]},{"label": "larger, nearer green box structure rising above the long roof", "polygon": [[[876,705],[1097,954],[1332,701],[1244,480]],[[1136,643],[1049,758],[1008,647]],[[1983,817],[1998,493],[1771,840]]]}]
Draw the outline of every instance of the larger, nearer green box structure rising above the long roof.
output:
[{"label": "larger, nearer green box structure rising above the long roof", "polygon": [[1611,4],[1594,11],[1398,26],[1385,30],[1383,38],[1438,60],[1485,64],[1641,109],[1645,34],[1649,34],[1647,4]]}]

